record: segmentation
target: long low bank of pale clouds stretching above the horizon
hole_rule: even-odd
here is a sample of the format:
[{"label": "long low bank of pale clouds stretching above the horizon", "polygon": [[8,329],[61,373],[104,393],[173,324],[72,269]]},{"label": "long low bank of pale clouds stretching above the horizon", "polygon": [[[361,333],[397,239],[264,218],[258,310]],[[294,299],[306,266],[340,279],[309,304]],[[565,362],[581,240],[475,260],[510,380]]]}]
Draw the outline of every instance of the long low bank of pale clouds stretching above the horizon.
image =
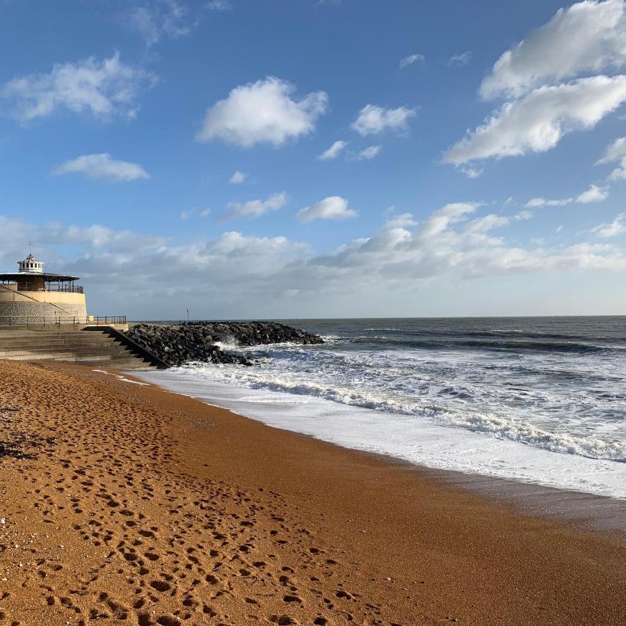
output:
[{"label": "long low bank of pale clouds stretching above the horizon", "polygon": [[[174,316],[175,304],[168,309],[168,303],[185,298],[202,307],[198,316],[304,316],[312,306],[319,305],[320,313],[332,311],[335,296],[353,303],[349,314],[363,314],[364,294],[378,297],[392,290],[395,297],[415,295],[431,280],[454,285],[570,270],[626,274],[623,248],[607,241],[556,248],[507,243],[490,235],[505,225],[503,216],[477,216],[479,208],[459,202],[424,218],[393,216],[371,236],[346,241],[325,254],[284,236],[225,232],[172,243],[102,225],[31,224],[0,216],[0,264],[13,267],[32,239],[50,271],[83,276],[93,310],[138,317]],[[624,220],[622,216],[618,226]]]}]

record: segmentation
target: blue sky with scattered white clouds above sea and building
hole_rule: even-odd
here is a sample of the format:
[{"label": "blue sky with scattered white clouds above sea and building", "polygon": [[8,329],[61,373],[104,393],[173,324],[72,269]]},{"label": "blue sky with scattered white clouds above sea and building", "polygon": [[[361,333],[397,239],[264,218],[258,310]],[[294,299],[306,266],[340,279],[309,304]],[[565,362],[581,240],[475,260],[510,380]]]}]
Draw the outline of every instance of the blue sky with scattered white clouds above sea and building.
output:
[{"label": "blue sky with scattered white clouds above sea and building", "polygon": [[626,314],[626,3],[0,0],[0,270],[130,319]]}]

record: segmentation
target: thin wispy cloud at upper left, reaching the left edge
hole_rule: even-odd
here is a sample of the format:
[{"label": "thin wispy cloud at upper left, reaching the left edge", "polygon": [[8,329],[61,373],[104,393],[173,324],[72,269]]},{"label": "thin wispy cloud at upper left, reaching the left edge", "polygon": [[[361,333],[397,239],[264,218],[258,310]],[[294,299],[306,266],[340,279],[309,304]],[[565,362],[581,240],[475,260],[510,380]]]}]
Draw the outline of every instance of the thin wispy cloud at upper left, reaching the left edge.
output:
[{"label": "thin wispy cloud at upper left, reaching the left edge", "polygon": [[0,88],[0,97],[13,104],[13,115],[22,122],[59,109],[88,111],[99,120],[114,115],[134,118],[138,96],[156,81],[151,72],[122,63],[115,52],[103,61],[90,57],[79,63],[56,63],[49,74],[15,78]]}]

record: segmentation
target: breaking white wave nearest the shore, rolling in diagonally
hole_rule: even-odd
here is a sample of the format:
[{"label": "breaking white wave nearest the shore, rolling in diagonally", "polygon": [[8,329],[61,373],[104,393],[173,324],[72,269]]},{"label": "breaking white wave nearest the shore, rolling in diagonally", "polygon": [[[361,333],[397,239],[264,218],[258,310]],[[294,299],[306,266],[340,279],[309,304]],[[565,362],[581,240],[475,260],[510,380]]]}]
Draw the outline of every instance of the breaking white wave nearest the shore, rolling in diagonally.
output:
[{"label": "breaking white wave nearest the shore, rolling in diagonally", "polygon": [[626,462],[626,444],[623,442],[604,441],[591,436],[551,433],[527,422],[486,412],[458,410],[432,402],[410,401],[406,398],[383,396],[348,387],[289,380],[285,376],[271,376],[267,373],[264,373],[264,378],[262,378],[259,374],[241,373],[240,369],[231,366],[188,364],[177,368],[177,371],[250,389],[313,396],[349,406],[427,418],[440,426],[463,428],[474,433],[510,440],[559,454],[575,454],[588,458]]}]

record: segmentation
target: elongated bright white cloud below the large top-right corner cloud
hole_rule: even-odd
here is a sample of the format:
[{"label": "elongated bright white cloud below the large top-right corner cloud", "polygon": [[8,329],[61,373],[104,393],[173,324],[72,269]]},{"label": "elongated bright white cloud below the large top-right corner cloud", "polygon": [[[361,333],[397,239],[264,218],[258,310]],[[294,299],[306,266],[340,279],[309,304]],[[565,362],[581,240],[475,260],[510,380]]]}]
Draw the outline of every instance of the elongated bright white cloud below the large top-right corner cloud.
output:
[{"label": "elongated bright white cloud below the large top-right corner cloud", "polygon": [[596,76],[540,87],[506,102],[443,157],[460,165],[476,159],[545,152],[572,131],[587,130],[626,99],[626,76]]}]

